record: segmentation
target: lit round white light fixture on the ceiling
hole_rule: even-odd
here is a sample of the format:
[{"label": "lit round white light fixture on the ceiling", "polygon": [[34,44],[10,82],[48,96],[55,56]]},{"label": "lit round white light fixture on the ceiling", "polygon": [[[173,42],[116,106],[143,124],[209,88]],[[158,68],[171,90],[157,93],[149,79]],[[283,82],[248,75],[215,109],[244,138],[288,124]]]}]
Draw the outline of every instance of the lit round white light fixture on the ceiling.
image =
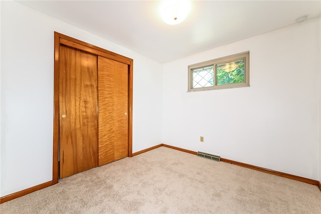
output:
[{"label": "lit round white light fixture on the ceiling", "polygon": [[183,22],[191,8],[188,0],[167,0],[161,7],[161,16],[169,25],[177,25]]}]

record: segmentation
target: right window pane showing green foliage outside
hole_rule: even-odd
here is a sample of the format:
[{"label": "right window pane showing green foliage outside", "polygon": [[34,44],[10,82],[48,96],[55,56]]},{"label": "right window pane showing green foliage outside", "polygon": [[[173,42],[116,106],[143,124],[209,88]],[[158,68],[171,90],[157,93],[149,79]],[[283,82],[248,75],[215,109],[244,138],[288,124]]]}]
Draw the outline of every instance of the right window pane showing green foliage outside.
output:
[{"label": "right window pane showing green foliage outside", "polygon": [[216,65],[216,85],[244,83],[244,61],[240,59]]}]

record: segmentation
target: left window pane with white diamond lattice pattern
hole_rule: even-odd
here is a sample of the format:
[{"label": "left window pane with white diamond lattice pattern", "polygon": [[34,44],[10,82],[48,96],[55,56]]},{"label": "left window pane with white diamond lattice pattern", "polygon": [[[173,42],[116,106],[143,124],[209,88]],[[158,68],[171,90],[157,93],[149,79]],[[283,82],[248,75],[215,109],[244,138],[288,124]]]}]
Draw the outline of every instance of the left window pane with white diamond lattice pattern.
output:
[{"label": "left window pane with white diamond lattice pattern", "polygon": [[214,69],[213,66],[206,66],[192,70],[193,88],[203,88],[214,85]]}]

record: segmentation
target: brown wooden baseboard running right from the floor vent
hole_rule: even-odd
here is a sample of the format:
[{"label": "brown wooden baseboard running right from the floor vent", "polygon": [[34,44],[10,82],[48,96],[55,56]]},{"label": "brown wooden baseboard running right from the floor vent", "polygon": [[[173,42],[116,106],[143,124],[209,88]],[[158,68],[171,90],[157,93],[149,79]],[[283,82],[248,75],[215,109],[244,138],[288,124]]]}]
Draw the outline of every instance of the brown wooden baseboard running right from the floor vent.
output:
[{"label": "brown wooden baseboard running right from the floor vent", "polygon": [[279,172],[279,171],[274,171],[271,169],[266,169],[266,168],[262,168],[262,167],[258,167],[258,166],[253,166],[250,164],[246,164],[246,163],[241,163],[241,162],[237,162],[234,160],[229,160],[229,159],[225,159],[225,158],[221,158],[222,162],[226,162],[226,163],[231,163],[234,165],[238,165],[238,166],[242,166],[242,167],[246,167],[246,168],[250,168],[250,169],[254,169],[257,171],[261,171],[261,172],[265,172],[265,173],[269,173],[269,174],[274,174],[277,176],[281,176],[281,177],[286,177],[292,180],[297,180],[297,181],[301,181],[304,183],[309,183],[309,184],[313,184],[313,185],[318,185],[318,181],[317,180],[312,180],[309,178],[305,178],[305,177],[300,177],[300,176],[296,176],[296,175],[292,175],[292,174],[287,174],[284,172]]}]

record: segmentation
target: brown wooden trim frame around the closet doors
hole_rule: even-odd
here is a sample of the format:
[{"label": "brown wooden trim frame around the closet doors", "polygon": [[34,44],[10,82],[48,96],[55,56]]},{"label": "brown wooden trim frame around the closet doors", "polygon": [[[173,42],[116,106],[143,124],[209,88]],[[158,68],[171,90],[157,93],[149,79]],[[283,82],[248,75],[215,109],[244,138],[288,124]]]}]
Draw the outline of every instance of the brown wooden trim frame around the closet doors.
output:
[{"label": "brown wooden trim frame around the closet doors", "polygon": [[[55,32],[54,43],[54,130],[53,130],[53,184],[59,175],[59,47],[65,45],[128,65],[128,157],[132,157],[132,79],[133,60]],[[98,157],[97,157],[98,158]]]}]

